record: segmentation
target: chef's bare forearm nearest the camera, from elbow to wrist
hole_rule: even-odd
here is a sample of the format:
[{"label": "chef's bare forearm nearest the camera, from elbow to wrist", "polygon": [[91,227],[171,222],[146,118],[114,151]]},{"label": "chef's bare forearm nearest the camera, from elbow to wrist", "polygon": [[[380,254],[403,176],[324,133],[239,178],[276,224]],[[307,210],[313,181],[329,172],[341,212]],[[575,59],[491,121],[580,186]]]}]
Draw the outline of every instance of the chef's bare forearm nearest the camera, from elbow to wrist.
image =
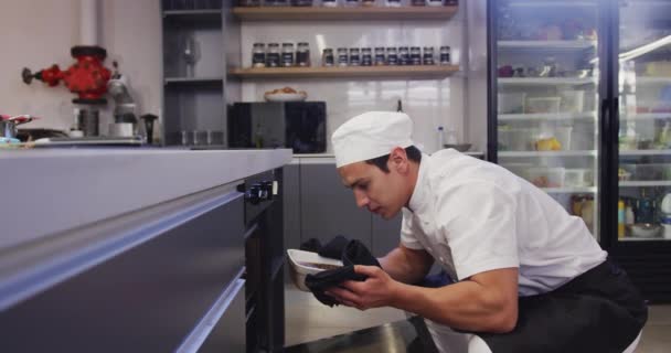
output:
[{"label": "chef's bare forearm nearest the camera, from elbow to wrist", "polygon": [[516,323],[516,304],[512,312],[503,298],[471,280],[441,288],[398,284],[393,298],[393,307],[454,329],[504,333]]}]

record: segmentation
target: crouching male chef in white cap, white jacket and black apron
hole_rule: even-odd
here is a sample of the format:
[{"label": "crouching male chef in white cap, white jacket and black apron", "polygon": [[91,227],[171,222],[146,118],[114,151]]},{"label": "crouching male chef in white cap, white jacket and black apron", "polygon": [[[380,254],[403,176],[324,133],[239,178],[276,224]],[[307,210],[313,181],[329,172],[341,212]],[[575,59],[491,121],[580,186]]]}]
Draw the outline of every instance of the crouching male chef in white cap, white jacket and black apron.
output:
[{"label": "crouching male chef in white cap, white jacket and black apron", "polygon": [[[360,310],[425,318],[440,352],[621,353],[647,307],[582,218],[505,169],[452,149],[422,153],[403,113],[356,116],[332,135],[338,173],[360,207],[403,212],[397,248],[365,281],[327,295]],[[455,284],[413,286],[437,261]]]}]

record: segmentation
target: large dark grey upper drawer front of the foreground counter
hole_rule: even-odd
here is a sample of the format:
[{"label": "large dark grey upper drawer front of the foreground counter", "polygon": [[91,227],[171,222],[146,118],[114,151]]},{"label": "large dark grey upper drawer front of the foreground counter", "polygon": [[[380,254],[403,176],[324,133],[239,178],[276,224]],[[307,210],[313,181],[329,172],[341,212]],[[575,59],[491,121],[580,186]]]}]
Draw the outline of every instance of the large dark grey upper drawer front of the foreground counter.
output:
[{"label": "large dark grey upper drawer front of the foreground counter", "polygon": [[245,265],[243,196],[216,202],[129,227],[109,247],[160,234],[0,312],[0,352],[174,351]]}]

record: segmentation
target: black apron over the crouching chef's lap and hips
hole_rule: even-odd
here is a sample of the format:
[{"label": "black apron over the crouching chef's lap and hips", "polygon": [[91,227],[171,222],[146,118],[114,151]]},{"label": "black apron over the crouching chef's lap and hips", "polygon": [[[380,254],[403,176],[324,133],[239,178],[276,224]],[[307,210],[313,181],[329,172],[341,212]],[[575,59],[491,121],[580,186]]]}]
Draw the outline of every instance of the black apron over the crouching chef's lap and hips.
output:
[{"label": "black apron over the crouching chef's lap and hips", "polygon": [[476,334],[492,353],[622,353],[647,320],[639,291],[606,260],[552,292],[521,297],[513,331]]}]

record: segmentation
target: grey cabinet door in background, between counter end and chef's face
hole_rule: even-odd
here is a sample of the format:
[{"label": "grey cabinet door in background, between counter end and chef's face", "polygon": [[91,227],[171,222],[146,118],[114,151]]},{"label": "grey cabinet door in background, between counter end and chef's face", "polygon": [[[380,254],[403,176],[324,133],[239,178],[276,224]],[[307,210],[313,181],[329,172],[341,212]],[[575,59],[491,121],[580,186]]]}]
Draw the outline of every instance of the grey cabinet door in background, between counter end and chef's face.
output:
[{"label": "grey cabinet door in background, between counter end and chef's face", "polygon": [[342,234],[371,246],[371,214],[359,208],[352,191],[342,185],[336,163],[300,165],[301,242],[322,243]]}]

